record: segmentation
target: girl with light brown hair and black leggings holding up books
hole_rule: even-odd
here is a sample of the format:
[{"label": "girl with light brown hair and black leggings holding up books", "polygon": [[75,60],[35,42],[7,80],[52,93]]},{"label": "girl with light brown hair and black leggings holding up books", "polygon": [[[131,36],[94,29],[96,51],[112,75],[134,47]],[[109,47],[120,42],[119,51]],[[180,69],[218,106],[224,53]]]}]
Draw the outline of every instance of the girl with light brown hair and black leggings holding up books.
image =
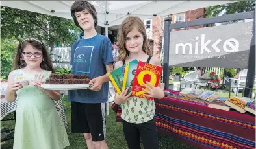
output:
[{"label": "girl with light brown hair and black leggings holding up books", "polygon": [[[147,41],[146,29],[144,23],[139,17],[127,17],[120,27],[119,37],[119,62],[116,62],[115,68],[121,67],[125,62],[138,61],[151,63],[160,66],[159,58],[151,56],[151,49]],[[143,89],[147,97],[164,98],[164,91],[160,87],[154,87],[149,82],[145,82]],[[128,93],[129,87],[114,98],[116,104],[121,104],[123,132],[129,148],[140,148],[140,137],[144,148],[159,148],[157,138],[157,128],[155,120],[155,102],[146,98],[131,97]]]}]

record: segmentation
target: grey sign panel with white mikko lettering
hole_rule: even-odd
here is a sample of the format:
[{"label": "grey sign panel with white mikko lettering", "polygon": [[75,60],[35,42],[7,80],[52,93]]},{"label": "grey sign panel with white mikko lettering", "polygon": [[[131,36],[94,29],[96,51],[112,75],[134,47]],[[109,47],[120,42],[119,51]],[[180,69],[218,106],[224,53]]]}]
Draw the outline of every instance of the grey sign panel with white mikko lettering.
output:
[{"label": "grey sign panel with white mikko lettering", "polygon": [[247,68],[251,22],[170,32],[169,65]]}]

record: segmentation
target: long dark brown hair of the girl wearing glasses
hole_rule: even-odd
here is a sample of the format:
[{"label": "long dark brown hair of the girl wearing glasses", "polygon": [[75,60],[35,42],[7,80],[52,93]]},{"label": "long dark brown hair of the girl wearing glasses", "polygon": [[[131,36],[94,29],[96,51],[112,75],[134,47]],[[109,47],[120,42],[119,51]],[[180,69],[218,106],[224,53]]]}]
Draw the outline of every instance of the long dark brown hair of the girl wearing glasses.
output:
[{"label": "long dark brown hair of the girl wearing glasses", "polygon": [[42,51],[43,61],[40,64],[40,67],[44,70],[51,71],[51,72],[55,73],[55,69],[53,68],[53,63],[51,63],[51,58],[47,52],[47,49],[46,49],[44,43],[42,43],[41,41],[38,41],[36,39],[27,39],[27,40],[23,40],[21,43],[19,43],[18,51],[16,53],[14,63],[13,63],[13,69],[14,70],[21,69],[21,68],[27,66],[25,61],[22,60],[22,56],[23,56],[22,52],[24,51],[24,48],[29,44],[32,45],[32,47]]}]

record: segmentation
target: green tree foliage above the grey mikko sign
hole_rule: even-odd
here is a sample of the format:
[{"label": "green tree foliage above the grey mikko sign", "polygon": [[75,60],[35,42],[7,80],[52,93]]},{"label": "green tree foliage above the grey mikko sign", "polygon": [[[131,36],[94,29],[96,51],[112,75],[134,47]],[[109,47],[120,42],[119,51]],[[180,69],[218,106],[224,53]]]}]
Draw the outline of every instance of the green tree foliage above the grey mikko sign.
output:
[{"label": "green tree foliage above the grey mikko sign", "polygon": [[224,5],[209,6],[206,9],[206,17],[216,17],[219,16],[223,10],[224,14],[235,14],[240,12],[253,11],[255,8],[255,1],[239,1],[235,3],[227,3]]}]

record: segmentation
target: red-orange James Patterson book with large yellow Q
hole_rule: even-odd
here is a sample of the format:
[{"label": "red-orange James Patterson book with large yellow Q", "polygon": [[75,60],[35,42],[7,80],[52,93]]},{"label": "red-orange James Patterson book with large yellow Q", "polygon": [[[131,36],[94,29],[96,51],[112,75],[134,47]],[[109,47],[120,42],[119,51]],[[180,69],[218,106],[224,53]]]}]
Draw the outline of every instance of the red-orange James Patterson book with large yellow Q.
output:
[{"label": "red-orange James Patterson book with large yellow Q", "polygon": [[149,82],[153,86],[157,87],[159,85],[161,75],[161,66],[139,61],[134,76],[132,95],[136,97],[146,98],[148,100],[153,100],[153,98],[143,95],[147,94],[145,91],[142,90],[142,88],[146,89],[146,87],[143,86],[143,83],[146,84],[146,82]]}]

